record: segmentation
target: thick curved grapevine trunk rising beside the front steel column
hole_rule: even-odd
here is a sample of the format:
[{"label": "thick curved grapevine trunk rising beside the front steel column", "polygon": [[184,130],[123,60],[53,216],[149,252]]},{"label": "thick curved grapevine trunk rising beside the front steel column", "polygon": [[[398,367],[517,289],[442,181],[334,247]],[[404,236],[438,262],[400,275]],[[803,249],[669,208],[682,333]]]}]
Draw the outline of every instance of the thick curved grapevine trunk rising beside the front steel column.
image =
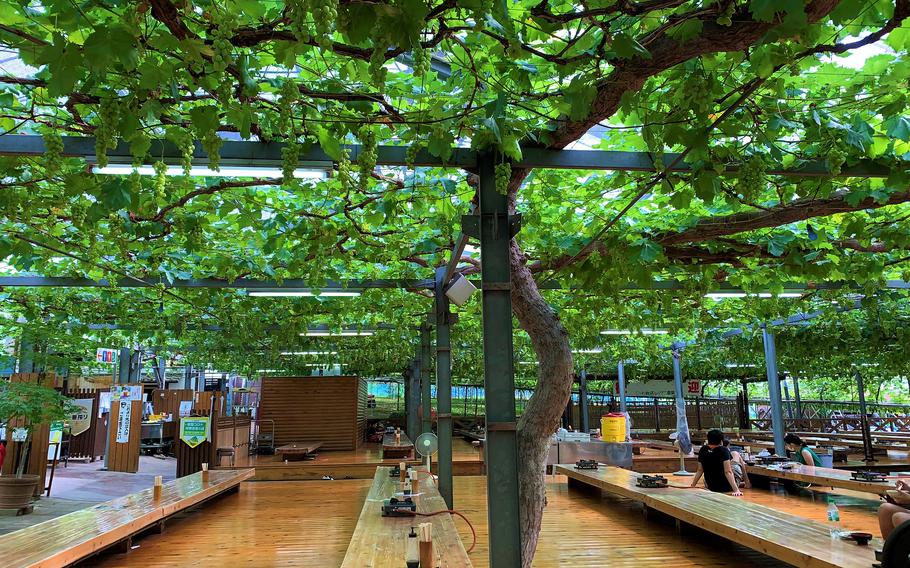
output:
[{"label": "thick curved grapevine trunk rising beside the front steel column", "polygon": [[518,421],[518,484],[521,510],[522,566],[531,566],[540,522],[547,504],[545,467],[555,432],[572,388],[572,351],[559,316],[547,304],[524,255],[513,240],[512,311],[531,338],[540,367],[537,389]]}]

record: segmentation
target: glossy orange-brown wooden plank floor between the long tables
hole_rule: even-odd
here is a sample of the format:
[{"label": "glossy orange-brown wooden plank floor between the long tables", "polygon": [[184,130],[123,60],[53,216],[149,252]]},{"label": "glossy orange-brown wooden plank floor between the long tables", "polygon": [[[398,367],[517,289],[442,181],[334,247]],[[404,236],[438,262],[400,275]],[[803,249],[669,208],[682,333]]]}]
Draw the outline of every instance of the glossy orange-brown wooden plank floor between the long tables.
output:
[{"label": "glossy orange-brown wooden plank floor between the long tables", "polygon": [[[369,490],[370,480],[244,483],[239,494],[173,521],[163,535],[151,535],[127,556],[109,555],[88,565],[195,567],[340,566]],[[878,535],[876,500],[869,495],[831,493],[844,526]],[[756,490],[745,499],[823,521],[828,494],[791,496]],[[680,537],[669,524],[647,522],[631,501],[569,491],[564,477],[551,476],[549,506],[534,565],[539,567],[742,567],[777,568],[765,556],[696,533]],[[470,554],[486,566],[486,478],[455,478],[456,508],[477,530]],[[465,547],[467,525],[456,519]]]}]

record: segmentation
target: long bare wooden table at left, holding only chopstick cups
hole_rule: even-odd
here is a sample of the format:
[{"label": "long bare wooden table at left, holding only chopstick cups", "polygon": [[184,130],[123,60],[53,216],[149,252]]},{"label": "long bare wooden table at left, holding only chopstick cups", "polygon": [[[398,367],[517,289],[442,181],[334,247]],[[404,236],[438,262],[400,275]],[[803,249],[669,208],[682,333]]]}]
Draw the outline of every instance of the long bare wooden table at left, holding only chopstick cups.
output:
[{"label": "long bare wooden table at left, holding only chopstick cups", "polygon": [[[253,477],[252,469],[212,470],[165,483],[161,498],[145,489],[0,536],[0,567],[56,568],[78,562]],[[192,560],[187,559],[187,564]]]}]

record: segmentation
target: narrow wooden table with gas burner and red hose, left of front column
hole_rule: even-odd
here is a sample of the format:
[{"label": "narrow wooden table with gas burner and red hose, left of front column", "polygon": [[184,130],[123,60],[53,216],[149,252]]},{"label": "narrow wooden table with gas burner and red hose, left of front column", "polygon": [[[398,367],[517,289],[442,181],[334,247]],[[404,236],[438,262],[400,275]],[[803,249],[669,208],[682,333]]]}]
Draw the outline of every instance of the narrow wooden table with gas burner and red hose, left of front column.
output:
[{"label": "narrow wooden table with gas burner and red hose, left of front column", "polygon": [[[432,517],[383,517],[382,503],[394,496],[401,498],[398,477],[391,477],[390,467],[376,468],[373,485],[367,494],[344,555],[342,568],[399,568],[404,566],[408,532],[420,523],[433,524],[434,568],[470,567],[471,560],[458,536],[452,515],[443,513]],[[410,487],[410,484],[407,485]],[[418,513],[444,511],[445,501],[429,476],[420,476],[420,491],[416,498]]]}]

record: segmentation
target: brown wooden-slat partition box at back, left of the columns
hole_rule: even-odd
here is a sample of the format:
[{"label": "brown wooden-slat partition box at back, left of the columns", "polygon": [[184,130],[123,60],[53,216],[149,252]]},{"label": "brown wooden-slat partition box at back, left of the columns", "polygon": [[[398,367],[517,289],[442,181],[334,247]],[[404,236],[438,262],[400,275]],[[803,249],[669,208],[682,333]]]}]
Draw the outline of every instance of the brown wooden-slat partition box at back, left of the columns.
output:
[{"label": "brown wooden-slat partition box at back, left of the columns", "polygon": [[275,445],[322,442],[353,450],[366,428],[366,382],[360,377],[265,377],[259,419],[275,421]]}]

